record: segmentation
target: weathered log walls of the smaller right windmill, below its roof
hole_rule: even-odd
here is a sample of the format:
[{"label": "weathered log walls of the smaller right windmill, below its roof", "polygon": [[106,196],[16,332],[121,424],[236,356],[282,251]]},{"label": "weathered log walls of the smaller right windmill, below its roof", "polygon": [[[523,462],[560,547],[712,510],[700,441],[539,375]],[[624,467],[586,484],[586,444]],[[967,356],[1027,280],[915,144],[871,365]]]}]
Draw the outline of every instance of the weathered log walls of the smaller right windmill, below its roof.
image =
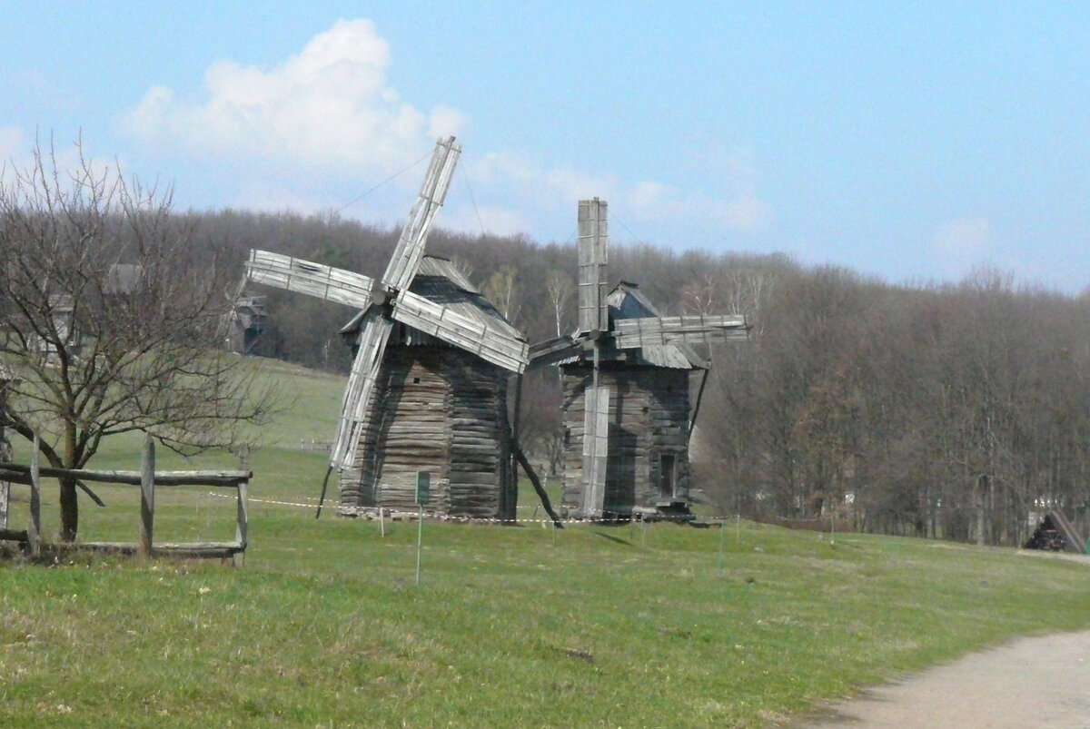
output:
[{"label": "weathered log walls of the smaller right windmill, below its roof", "polygon": [[[613,365],[613,366],[611,366]],[[593,368],[561,366],[564,387],[564,503],[583,502],[584,391]],[[609,399],[609,455],[604,511],[632,513],[633,507],[689,501],[689,370],[602,363],[598,384]],[[664,494],[664,476],[673,488]]]}]

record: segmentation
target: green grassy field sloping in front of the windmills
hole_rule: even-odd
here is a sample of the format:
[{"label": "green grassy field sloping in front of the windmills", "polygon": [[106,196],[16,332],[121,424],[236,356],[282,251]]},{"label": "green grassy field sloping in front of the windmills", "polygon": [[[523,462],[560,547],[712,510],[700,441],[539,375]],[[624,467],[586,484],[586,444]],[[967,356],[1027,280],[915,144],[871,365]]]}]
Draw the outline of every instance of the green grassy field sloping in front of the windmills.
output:
[{"label": "green grassy field sloping in front of the windmills", "polygon": [[[253,451],[245,567],[0,568],[0,726],[774,726],[1015,635],[1090,628],[1080,561],[748,522],[426,523],[417,586],[416,524],[314,520],[325,459],[298,445],[328,439],[340,380],[269,376],[300,397]],[[135,469],[135,446],[96,465]],[[102,490],[84,538],[134,539],[131,489]],[[159,505],[162,538],[233,535],[227,499]]]}]

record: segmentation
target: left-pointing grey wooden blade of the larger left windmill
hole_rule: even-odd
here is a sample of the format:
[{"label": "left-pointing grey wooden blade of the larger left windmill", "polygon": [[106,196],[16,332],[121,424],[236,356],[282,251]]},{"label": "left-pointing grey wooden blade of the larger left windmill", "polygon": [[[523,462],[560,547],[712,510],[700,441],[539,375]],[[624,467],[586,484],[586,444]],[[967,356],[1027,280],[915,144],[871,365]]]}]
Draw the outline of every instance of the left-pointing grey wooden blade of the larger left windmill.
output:
[{"label": "left-pointing grey wooden blade of the larger left windmill", "polygon": [[375,287],[374,280],[362,274],[257,250],[250,252],[246,277],[256,283],[356,308],[371,305],[371,290]]}]

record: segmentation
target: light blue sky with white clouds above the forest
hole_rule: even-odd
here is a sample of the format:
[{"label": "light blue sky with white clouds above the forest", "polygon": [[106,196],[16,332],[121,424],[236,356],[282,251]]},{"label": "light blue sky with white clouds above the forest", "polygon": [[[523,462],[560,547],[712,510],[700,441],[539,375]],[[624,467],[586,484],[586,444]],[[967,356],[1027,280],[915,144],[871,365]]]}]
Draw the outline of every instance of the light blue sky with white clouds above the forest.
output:
[{"label": "light blue sky with white clouds above the forest", "polygon": [[512,5],[8,2],[0,158],[395,224],[455,134],[456,230],[1090,285],[1088,3]]}]

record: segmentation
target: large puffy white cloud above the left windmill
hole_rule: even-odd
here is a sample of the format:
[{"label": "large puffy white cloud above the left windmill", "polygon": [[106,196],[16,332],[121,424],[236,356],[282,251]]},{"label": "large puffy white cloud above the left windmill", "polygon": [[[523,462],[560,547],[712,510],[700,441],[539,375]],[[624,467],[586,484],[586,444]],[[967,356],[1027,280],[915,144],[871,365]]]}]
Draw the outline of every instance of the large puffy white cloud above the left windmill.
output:
[{"label": "large puffy white cloud above the left windmill", "polygon": [[397,171],[465,120],[449,107],[425,113],[403,101],[388,85],[389,63],[389,44],[371,21],[338,21],[274,68],[214,64],[198,102],[155,86],[122,126],[148,144],[257,167]]}]

